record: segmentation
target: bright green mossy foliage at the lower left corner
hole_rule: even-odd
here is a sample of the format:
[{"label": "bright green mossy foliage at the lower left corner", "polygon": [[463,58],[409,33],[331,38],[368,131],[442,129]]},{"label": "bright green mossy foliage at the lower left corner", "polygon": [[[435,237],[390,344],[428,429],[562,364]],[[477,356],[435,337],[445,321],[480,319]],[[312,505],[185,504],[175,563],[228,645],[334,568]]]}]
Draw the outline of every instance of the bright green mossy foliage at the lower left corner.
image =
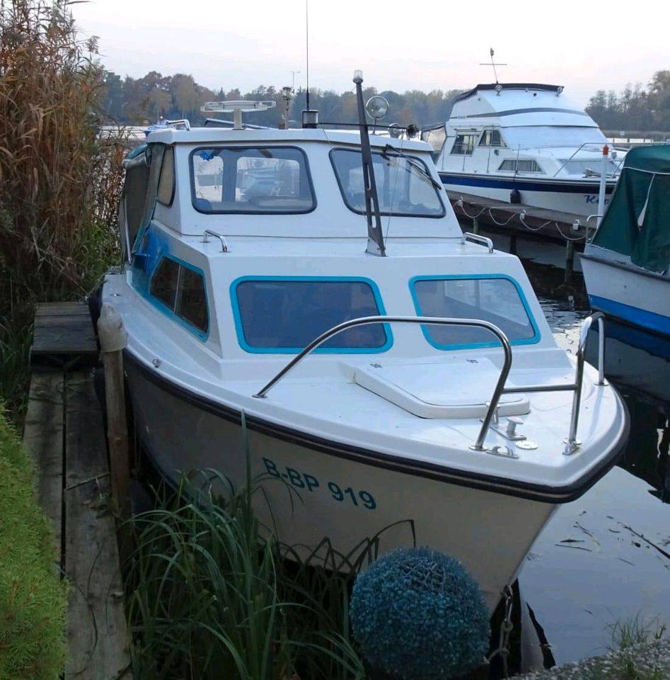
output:
[{"label": "bright green mossy foliage at the lower left corner", "polygon": [[0,680],[62,672],[67,596],[56,560],[32,461],[0,403]]}]

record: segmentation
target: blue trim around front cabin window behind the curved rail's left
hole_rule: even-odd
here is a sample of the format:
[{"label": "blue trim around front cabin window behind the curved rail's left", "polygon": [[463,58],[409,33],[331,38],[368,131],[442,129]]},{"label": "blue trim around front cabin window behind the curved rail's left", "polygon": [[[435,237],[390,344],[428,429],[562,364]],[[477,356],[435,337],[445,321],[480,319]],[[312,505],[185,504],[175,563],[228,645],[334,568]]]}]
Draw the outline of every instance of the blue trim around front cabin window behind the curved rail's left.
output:
[{"label": "blue trim around front cabin window behind the curved rail's left", "polygon": [[[364,276],[241,276],[233,280],[230,285],[231,306],[233,309],[233,319],[235,320],[235,330],[237,341],[241,348],[252,354],[297,354],[303,351],[304,347],[254,347],[247,343],[242,327],[242,316],[237,302],[237,287],[244,281],[345,281],[367,283],[376,302],[380,315],[386,314],[381,294],[377,284]],[[386,342],[381,347],[318,347],[314,353],[320,354],[380,354],[388,351],[393,346],[393,333],[389,324],[383,324]]]}]

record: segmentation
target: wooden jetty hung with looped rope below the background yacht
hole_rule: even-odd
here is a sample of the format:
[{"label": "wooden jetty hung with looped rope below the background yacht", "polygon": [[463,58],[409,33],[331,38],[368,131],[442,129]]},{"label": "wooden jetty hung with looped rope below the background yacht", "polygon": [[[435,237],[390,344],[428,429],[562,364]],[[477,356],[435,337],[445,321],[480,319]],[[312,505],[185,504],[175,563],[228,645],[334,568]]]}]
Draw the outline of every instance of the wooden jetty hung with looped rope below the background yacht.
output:
[{"label": "wooden jetty hung with looped rope below the background yacht", "polygon": [[[570,212],[544,210],[522,203],[504,203],[492,198],[471,196],[460,191],[447,191],[451,206],[459,222],[472,225],[471,230],[478,233],[480,227],[499,230],[519,236],[533,236],[558,243],[582,242],[587,230],[596,224],[594,218],[588,220],[584,215]],[[594,205],[594,213],[598,207]]]}]

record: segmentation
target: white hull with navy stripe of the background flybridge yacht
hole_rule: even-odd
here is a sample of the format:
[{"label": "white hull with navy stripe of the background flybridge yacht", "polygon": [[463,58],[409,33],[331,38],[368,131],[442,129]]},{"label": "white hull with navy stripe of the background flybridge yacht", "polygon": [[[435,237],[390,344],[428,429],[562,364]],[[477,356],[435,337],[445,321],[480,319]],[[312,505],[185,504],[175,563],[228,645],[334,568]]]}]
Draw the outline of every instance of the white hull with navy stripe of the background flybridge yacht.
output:
[{"label": "white hull with navy stripe of the background flybridge yacht", "polygon": [[[583,217],[596,215],[598,212],[599,183],[508,179],[446,171],[441,171],[439,176],[447,191],[462,191],[465,194],[509,203],[509,195],[516,189],[521,194],[520,202],[524,205]],[[613,183],[606,185],[606,197],[611,195],[613,188]],[[605,203],[608,200],[606,198]]]}]

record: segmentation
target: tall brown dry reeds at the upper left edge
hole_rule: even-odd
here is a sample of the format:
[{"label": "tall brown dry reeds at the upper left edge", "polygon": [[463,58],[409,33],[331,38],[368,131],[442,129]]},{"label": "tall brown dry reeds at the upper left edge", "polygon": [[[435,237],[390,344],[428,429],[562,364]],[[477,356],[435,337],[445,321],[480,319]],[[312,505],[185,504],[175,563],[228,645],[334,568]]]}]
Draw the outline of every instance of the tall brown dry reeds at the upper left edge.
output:
[{"label": "tall brown dry reeds at the upper left edge", "polygon": [[1,364],[25,346],[35,302],[84,295],[117,259],[123,147],[98,135],[103,68],[67,6],[0,3]]}]

